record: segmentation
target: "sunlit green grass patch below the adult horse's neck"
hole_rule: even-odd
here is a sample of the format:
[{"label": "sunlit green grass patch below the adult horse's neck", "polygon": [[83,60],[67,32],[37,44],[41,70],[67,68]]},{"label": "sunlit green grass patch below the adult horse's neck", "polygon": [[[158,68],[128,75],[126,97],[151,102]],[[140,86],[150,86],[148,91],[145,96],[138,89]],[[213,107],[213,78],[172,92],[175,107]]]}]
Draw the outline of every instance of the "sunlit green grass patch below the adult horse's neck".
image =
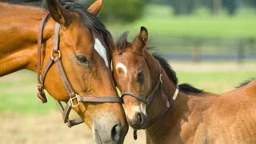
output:
[{"label": "sunlit green grass patch below the adult horse's neck", "polygon": [[57,110],[53,98],[42,104],[37,97],[37,77],[34,72],[21,70],[0,78],[0,111],[24,114],[46,114]]}]

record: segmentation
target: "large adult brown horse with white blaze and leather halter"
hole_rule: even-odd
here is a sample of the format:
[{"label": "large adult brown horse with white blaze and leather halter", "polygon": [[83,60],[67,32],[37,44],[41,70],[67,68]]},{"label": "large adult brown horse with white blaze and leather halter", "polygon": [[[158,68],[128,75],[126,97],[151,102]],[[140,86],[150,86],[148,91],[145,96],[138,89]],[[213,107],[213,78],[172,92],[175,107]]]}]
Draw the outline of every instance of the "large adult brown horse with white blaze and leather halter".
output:
[{"label": "large adult brown horse with white blaze and leather halter", "polygon": [[[1,1],[0,77],[38,71],[38,97],[46,102],[46,89],[58,100],[64,122],[85,122],[97,143],[122,143],[128,124],[110,70],[114,41],[97,18],[101,9],[102,0],[88,10],[73,0]],[[81,118],[70,120],[71,108]]]}]

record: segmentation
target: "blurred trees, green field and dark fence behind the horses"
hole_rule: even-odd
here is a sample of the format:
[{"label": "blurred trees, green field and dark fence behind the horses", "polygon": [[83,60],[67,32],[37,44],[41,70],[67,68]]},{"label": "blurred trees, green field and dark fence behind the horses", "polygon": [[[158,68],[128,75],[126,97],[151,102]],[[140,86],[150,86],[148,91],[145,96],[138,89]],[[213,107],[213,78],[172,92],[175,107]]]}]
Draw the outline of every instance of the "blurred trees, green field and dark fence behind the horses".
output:
[{"label": "blurred trees, green field and dark fence behind the horses", "polygon": [[145,26],[150,46],[169,59],[242,62],[256,58],[255,7],[255,0],[106,0],[99,17],[115,39]]}]

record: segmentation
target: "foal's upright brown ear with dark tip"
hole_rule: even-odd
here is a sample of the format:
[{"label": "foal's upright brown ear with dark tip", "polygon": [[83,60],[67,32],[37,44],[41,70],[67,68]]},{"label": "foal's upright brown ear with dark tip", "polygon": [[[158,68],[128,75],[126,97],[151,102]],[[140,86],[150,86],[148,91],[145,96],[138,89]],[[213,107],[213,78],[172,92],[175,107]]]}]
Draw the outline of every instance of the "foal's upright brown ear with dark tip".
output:
[{"label": "foal's upright brown ear with dark tip", "polygon": [[142,51],[143,48],[146,46],[147,40],[148,40],[148,32],[145,27],[141,27],[141,31],[137,35],[137,37],[134,39],[134,42],[132,43],[132,47],[134,50]]}]

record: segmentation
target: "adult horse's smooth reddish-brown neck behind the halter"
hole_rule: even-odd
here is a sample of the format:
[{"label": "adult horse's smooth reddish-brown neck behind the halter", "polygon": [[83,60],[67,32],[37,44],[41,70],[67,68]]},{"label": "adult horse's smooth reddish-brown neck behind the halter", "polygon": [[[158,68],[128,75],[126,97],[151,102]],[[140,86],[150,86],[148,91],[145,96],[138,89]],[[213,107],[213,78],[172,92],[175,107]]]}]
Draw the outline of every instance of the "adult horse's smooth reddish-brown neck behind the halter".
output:
[{"label": "adult horse's smooth reddish-brown neck behind the halter", "polygon": [[[0,76],[22,69],[36,71],[38,26],[43,14],[42,8],[0,2]],[[42,42],[53,34],[54,21],[49,21]]]}]

